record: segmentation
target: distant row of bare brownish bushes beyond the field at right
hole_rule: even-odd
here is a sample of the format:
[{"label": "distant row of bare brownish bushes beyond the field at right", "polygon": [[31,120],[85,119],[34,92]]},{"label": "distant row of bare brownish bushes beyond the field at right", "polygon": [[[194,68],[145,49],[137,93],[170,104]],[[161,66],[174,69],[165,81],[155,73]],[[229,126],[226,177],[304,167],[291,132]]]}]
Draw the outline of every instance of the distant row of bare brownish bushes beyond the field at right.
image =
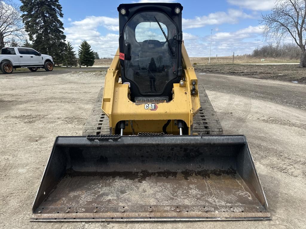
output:
[{"label": "distant row of bare brownish bushes beyond the field at right", "polygon": [[252,56],[258,58],[279,58],[297,60],[300,58],[302,51],[296,44],[272,44],[263,45],[253,50]]}]

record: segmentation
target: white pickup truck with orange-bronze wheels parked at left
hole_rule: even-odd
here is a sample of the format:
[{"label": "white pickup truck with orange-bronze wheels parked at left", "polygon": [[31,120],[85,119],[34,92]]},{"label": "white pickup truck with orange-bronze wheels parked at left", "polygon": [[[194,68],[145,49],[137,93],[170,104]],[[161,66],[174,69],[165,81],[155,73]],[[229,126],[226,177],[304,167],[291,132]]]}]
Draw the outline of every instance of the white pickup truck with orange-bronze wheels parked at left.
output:
[{"label": "white pickup truck with orange-bronze wheels parked at left", "polygon": [[0,67],[4,74],[13,72],[14,68],[27,67],[30,71],[44,68],[53,70],[52,56],[40,54],[34,49],[23,47],[6,47],[1,49]]}]

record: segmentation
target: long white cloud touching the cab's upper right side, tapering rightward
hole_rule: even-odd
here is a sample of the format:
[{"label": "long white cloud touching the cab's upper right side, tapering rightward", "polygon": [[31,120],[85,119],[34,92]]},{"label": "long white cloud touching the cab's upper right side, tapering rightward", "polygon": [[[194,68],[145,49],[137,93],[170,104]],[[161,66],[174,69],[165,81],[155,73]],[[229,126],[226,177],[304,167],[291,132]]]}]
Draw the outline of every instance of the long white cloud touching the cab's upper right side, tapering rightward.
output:
[{"label": "long white cloud touching the cab's upper right side, tapering rightward", "polygon": [[242,10],[229,9],[228,13],[220,11],[210,13],[208,16],[196,16],[194,19],[182,18],[183,29],[200,28],[206,25],[219,25],[219,24],[236,24],[240,18],[252,18],[252,16],[244,13]]}]

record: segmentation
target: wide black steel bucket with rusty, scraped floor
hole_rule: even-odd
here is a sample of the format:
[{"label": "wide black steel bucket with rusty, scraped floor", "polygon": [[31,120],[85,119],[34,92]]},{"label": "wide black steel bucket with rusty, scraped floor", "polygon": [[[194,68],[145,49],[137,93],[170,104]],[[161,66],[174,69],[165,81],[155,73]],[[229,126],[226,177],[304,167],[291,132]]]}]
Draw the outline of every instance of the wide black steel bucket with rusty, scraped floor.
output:
[{"label": "wide black steel bucket with rusty, scraped floor", "polygon": [[244,136],[57,137],[31,220],[260,220]]}]

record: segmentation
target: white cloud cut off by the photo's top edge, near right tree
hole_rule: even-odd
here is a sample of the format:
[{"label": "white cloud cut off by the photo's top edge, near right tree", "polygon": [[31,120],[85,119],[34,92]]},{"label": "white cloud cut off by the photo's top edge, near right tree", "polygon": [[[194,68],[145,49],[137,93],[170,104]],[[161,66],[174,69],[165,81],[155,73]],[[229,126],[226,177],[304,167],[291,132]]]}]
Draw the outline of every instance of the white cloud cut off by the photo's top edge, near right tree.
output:
[{"label": "white cloud cut off by the photo's top edge, near right tree", "polygon": [[252,10],[269,10],[274,6],[275,0],[227,0],[232,5]]}]

